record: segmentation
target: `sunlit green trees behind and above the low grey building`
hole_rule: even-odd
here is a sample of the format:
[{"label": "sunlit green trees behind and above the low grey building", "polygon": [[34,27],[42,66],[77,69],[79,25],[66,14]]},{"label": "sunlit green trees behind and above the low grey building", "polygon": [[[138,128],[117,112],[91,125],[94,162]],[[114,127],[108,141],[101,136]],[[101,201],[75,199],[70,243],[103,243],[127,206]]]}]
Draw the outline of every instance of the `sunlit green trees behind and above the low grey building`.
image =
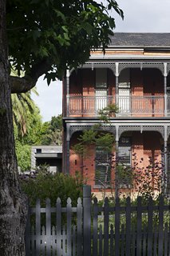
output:
[{"label": "sunlit green trees behind and above the low grey building", "polygon": [[[34,105],[34,102],[32,102]],[[34,105],[34,112],[26,112],[26,134],[22,135],[18,126],[14,123],[15,148],[18,166],[22,171],[30,170],[31,146],[33,145],[57,145],[62,142],[61,114],[52,117],[51,121],[42,123],[38,106]]]}]

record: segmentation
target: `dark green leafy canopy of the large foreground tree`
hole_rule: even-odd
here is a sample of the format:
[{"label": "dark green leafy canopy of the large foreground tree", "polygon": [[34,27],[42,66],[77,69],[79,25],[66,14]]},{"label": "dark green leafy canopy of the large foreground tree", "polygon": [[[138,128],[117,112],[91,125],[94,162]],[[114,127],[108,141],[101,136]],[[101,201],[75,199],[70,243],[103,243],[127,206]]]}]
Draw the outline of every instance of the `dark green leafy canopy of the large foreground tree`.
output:
[{"label": "dark green leafy canopy of the large foreground tree", "polygon": [[[42,74],[49,83],[66,68],[84,63],[91,49],[105,50],[115,28],[109,10],[123,18],[115,0],[9,0],[6,8],[10,63],[18,74],[26,71],[13,92],[30,90]],[[25,88],[24,79],[32,81]]]}]

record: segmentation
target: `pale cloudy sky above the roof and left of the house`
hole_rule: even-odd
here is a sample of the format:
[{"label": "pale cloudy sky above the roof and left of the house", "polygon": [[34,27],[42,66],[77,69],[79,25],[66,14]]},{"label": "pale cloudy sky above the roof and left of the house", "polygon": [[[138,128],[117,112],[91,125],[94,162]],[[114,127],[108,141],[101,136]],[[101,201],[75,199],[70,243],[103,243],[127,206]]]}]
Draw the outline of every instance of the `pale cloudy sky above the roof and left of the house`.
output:
[{"label": "pale cloudy sky above the roof and left of the house", "polygon": [[[111,12],[116,20],[115,32],[170,33],[170,0],[117,0],[117,3],[125,18],[122,21],[118,14]],[[39,96],[32,98],[40,108],[43,122],[50,121],[62,112],[61,81],[48,86],[42,76],[36,86]]]}]

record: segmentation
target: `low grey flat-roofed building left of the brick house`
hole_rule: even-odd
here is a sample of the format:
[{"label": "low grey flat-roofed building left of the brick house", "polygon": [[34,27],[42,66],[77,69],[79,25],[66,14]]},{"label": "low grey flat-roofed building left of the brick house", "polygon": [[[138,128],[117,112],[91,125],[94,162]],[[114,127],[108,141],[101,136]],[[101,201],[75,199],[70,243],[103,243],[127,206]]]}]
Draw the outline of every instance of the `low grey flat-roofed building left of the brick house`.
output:
[{"label": "low grey flat-roofed building left of the brick house", "polygon": [[62,146],[32,146],[31,170],[38,166],[48,166],[50,172],[61,172]]}]

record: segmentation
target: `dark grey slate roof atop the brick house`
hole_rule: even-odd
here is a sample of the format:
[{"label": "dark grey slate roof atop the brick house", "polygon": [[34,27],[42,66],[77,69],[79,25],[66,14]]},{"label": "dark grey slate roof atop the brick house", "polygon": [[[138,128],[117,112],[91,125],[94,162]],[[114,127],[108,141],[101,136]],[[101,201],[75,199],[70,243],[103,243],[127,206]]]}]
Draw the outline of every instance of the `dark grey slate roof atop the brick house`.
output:
[{"label": "dark grey slate roof atop the brick house", "polygon": [[170,47],[170,33],[115,33],[109,46]]}]

